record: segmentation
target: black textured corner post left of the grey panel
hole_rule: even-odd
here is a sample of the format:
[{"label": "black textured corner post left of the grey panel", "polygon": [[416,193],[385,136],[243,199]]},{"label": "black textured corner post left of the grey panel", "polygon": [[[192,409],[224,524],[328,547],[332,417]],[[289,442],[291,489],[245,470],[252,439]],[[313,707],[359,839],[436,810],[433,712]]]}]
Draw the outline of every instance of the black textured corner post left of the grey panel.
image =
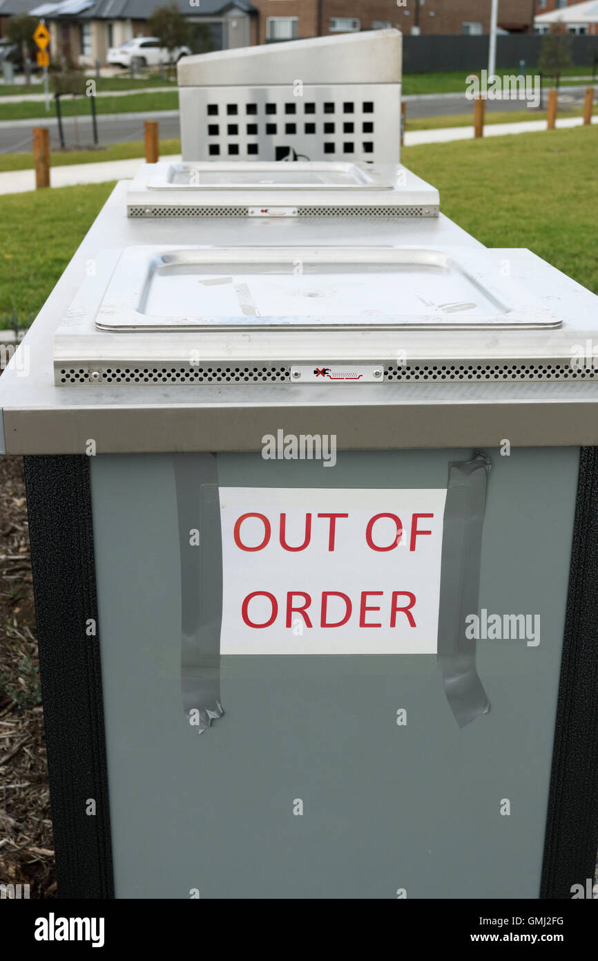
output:
[{"label": "black textured corner post left of the grey panel", "polygon": [[89,460],[24,462],[59,897],[108,899],[114,893]]}]

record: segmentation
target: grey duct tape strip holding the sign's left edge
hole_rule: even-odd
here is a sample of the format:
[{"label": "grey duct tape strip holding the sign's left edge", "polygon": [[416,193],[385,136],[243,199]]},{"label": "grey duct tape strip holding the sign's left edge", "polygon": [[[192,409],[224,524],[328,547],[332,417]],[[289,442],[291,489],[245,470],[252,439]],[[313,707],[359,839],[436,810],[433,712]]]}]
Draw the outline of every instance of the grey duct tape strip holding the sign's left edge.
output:
[{"label": "grey duct tape strip holding the sign's left edge", "polygon": [[200,733],[225,713],[220,700],[222,532],[216,457],[174,456],[180,546],[180,688]]}]

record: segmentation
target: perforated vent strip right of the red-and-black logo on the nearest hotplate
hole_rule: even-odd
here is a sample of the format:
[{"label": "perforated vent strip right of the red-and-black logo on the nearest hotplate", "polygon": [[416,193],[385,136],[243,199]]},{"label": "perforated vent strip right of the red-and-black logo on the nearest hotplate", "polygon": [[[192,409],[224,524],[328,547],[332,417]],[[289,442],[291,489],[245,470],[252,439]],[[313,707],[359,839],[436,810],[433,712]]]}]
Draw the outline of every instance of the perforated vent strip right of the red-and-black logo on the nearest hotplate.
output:
[{"label": "perforated vent strip right of the red-and-black logo on the nearest hotplate", "polygon": [[564,361],[518,364],[416,364],[387,367],[385,380],[393,381],[583,381],[594,380],[598,370],[575,370]]}]

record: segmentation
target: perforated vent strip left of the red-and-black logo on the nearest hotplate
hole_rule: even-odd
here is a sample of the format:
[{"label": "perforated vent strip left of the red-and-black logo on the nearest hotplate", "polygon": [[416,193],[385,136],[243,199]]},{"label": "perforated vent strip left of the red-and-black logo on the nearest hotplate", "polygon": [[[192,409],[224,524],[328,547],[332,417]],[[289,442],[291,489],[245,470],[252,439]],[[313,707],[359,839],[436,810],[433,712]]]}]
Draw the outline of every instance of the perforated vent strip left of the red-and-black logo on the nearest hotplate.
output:
[{"label": "perforated vent strip left of the red-and-black logo on the nearest hotplate", "polygon": [[[97,376],[96,376],[97,375]],[[290,381],[290,367],[84,367],[60,369],[60,383],[272,383]]]}]

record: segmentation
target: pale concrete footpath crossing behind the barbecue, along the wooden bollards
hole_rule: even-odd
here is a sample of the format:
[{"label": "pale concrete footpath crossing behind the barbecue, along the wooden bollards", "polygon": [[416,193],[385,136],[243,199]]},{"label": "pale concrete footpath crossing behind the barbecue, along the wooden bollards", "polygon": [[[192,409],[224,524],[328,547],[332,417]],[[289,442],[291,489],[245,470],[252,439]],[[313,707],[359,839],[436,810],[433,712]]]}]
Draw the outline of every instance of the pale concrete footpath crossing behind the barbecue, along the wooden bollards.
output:
[{"label": "pale concrete footpath crossing behind the barbecue, along the wooden bollards", "polygon": [[[582,117],[564,117],[557,120],[557,128],[580,127]],[[598,124],[598,116],[592,118],[592,123]],[[530,134],[546,131],[545,120],[527,120],[523,123],[488,124],[485,136],[506,136],[512,134]],[[473,126],[447,127],[440,130],[419,130],[407,132],[405,146],[412,147],[428,143],[448,143],[451,140],[473,139]],[[162,157],[160,160],[178,161],[179,156]],[[50,173],[51,185],[74,186],[77,184],[102,184],[106,181],[127,180],[132,178],[142,162],[141,158],[133,160],[110,160],[99,163],[75,163],[67,166],[52,167]],[[0,194],[24,193],[36,187],[33,170],[14,170],[0,174]]]}]

